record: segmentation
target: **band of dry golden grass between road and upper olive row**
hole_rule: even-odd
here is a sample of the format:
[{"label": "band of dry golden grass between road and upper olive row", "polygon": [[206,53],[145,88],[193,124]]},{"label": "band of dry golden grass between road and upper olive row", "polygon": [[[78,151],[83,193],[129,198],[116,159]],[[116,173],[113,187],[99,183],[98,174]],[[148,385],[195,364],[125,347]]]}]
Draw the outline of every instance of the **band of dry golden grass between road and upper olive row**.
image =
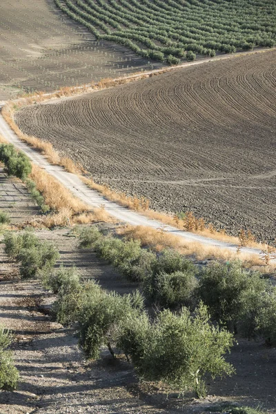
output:
[{"label": "band of dry golden grass between road and upper olive row", "polygon": [[164,248],[175,248],[180,253],[186,256],[194,256],[198,260],[221,259],[225,261],[239,259],[245,267],[262,266],[262,259],[259,255],[231,253],[227,249],[216,246],[204,246],[197,242],[186,242],[176,235],[167,233],[164,228],[155,230],[146,226],[125,226],[120,228],[118,232],[127,239],[139,240],[142,246],[150,246],[157,251],[161,251]]}]

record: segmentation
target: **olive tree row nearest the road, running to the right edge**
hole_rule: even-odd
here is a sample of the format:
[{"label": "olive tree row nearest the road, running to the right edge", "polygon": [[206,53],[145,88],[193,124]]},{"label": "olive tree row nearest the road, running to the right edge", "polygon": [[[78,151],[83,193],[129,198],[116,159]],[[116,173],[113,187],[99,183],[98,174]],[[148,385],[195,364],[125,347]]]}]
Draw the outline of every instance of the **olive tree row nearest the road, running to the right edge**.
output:
[{"label": "olive tree row nearest the road, running to the right edge", "polygon": [[240,262],[214,262],[199,269],[175,250],[156,255],[137,241],[103,236],[95,227],[81,230],[79,238],[80,247],[92,247],[122,275],[141,282],[146,299],[155,306],[193,311],[202,301],[217,324],[248,339],[259,336],[276,344],[275,287]]}]

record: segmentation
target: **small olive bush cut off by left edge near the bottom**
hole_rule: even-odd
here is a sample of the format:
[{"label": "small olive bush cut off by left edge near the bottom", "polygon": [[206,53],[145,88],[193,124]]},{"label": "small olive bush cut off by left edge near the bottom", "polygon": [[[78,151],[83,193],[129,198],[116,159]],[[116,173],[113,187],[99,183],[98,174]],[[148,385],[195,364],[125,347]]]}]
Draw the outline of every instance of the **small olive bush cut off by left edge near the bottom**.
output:
[{"label": "small olive bush cut off by left edge near the bottom", "polygon": [[6,351],[11,344],[12,336],[7,329],[0,328],[0,388],[13,391],[17,388],[19,373],[12,362],[12,353]]}]

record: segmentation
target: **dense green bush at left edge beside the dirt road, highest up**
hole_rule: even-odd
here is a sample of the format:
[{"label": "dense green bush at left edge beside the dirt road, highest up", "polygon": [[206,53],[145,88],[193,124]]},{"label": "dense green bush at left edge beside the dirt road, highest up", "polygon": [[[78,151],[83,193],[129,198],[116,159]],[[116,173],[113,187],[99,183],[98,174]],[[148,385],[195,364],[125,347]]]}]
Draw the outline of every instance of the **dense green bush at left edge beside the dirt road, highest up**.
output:
[{"label": "dense green bush at left edge beside the dirt road, highest up", "polygon": [[15,175],[23,181],[32,171],[28,157],[21,151],[17,152],[12,144],[0,144],[0,161],[5,164],[8,175]]}]

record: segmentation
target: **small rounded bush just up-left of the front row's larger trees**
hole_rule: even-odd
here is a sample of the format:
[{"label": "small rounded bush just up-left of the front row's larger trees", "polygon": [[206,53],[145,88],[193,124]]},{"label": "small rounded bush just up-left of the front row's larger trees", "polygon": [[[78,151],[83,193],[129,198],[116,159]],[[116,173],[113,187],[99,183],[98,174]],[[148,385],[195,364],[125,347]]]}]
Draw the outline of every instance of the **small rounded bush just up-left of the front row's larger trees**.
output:
[{"label": "small rounded bush just up-left of the front row's larger trees", "polygon": [[53,271],[44,279],[46,288],[50,288],[55,295],[59,290],[72,291],[77,290],[79,286],[79,273],[77,268],[64,268],[60,266],[58,270]]}]

